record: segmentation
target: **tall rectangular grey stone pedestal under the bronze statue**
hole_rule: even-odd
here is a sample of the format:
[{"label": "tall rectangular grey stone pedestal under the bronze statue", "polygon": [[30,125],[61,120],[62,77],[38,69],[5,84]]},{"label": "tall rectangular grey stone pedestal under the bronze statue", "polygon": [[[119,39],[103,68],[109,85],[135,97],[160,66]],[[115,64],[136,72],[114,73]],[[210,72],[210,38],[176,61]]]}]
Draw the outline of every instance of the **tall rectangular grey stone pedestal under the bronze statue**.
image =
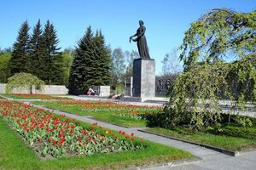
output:
[{"label": "tall rectangular grey stone pedestal under the bronze statue", "polygon": [[155,62],[154,59],[133,60],[132,96],[142,100],[155,97]]}]

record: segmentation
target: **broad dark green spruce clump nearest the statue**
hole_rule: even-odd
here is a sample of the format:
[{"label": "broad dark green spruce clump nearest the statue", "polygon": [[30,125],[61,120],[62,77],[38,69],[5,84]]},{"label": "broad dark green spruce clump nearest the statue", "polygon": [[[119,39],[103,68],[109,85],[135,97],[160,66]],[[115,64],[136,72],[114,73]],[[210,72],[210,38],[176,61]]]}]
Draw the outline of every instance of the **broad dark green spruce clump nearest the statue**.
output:
[{"label": "broad dark green spruce clump nearest the statue", "polygon": [[108,85],[111,79],[110,57],[102,31],[96,31],[94,36],[89,26],[75,49],[69,77],[70,94],[85,93],[91,86]]}]

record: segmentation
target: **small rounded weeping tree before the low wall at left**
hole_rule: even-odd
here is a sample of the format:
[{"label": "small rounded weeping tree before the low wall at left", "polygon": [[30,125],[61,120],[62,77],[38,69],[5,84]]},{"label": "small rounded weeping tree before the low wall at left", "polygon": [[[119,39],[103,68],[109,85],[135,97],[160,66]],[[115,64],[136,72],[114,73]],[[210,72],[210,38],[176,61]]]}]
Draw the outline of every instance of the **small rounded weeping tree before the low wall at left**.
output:
[{"label": "small rounded weeping tree before the low wall at left", "polygon": [[6,93],[11,94],[14,89],[21,91],[25,88],[32,94],[33,86],[38,90],[43,90],[42,85],[44,85],[44,82],[38,79],[38,77],[32,76],[30,73],[21,72],[15,74],[15,76],[9,77],[5,91]]}]

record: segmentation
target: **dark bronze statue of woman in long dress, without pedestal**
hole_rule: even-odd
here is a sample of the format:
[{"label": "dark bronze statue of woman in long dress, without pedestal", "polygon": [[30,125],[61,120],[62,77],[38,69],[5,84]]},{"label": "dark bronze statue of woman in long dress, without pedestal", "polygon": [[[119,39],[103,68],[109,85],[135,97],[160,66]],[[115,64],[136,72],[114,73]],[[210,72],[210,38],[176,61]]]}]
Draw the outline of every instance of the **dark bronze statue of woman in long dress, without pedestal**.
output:
[{"label": "dark bronze statue of woman in long dress, without pedestal", "polygon": [[[130,42],[131,40],[133,42],[137,42],[137,49],[142,59],[150,59],[150,56],[148,53],[148,44],[147,44],[146,37],[144,35],[146,31],[146,27],[143,26],[144,25],[143,20],[139,21],[139,25],[140,27],[137,29],[136,34],[130,37]],[[135,37],[135,38],[132,38],[132,37]]]}]

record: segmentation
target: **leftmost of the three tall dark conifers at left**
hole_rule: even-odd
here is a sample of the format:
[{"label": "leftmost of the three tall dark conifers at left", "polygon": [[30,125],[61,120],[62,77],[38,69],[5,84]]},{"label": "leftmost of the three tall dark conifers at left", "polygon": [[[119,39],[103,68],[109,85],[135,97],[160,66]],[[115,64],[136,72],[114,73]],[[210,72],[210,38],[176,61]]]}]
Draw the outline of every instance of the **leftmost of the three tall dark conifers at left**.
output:
[{"label": "leftmost of the three tall dark conifers at left", "polygon": [[18,37],[13,46],[13,53],[9,60],[10,74],[29,72],[29,31],[27,20],[21,25]]}]

